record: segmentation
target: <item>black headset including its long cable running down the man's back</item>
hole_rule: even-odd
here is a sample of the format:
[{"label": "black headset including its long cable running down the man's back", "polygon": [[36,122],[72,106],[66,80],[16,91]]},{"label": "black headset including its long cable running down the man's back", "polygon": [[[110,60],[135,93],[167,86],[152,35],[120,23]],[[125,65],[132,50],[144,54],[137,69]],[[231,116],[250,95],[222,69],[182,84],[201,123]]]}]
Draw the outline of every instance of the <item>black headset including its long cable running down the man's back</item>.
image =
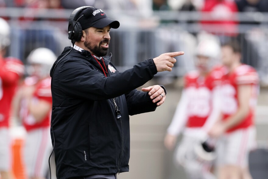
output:
[{"label": "black headset including its long cable running down the man's back", "polygon": [[[72,48],[71,48],[71,50],[69,50],[68,53],[66,53],[62,58],[60,58],[60,59],[58,60],[58,62],[55,64],[54,69],[53,69],[53,71],[52,71],[52,73],[51,73],[51,87],[52,87],[52,77],[53,77],[54,70],[55,70],[56,66],[58,65],[58,63],[59,63],[59,62],[60,62],[66,55],[68,55],[68,54],[72,51],[72,49],[73,49],[73,47],[74,47],[74,43],[75,43],[76,41],[80,41],[80,39],[81,39],[81,36],[82,36],[82,26],[81,26],[81,24],[78,22],[78,20],[79,20],[81,17],[83,17],[83,16],[86,16],[86,17],[87,17],[87,16],[88,16],[87,14],[88,14],[89,12],[85,12],[86,15],[85,15],[85,13],[83,13],[78,19],[77,19],[77,16],[78,16],[78,14],[79,14],[83,9],[90,8],[90,7],[92,7],[92,6],[82,6],[82,7],[79,7],[79,8],[77,8],[77,9],[75,9],[75,10],[72,12],[72,14],[71,14],[71,16],[70,16],[70,18],[69,18],[69,24],[68,24],[68,34],[69,34],[69,36],[68,36],[68,38],[72,41]],[[77,20],[75,20],[75,19],[77,19]],[[52,95],[52,91],[51,91],[51,95]],[[53,104],[53,97],[52,97],[52,104]],[[53,108],[53,106],[52,106],[52,108]],[[53,109],[52,109],[52,110],[53,110]],[[51,179],[50,158],[51,158],[51,155],[52,155],[52,153],[53,153],[53,151],[54,151],[54,148],[55,148],[55,136],[54,136],[54,131],[53,131],[52,119],[51,119],[51,128],[52,128],[52,134],[53,134],[54,142],[53,142],[53,150],[52,150],[52,152],[51,152],[51,154],[50,154],[50,156],[49,156],[49,158],[48,158],[48,165],[49,165],[50,179]]]}]

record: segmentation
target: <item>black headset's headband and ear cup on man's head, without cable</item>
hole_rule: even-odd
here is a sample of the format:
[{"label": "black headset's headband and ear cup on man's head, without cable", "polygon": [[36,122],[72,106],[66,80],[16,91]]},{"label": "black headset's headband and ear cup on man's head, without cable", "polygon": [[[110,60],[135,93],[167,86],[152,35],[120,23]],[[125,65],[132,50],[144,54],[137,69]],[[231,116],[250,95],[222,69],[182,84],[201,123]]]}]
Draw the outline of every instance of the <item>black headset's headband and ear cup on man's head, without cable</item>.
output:
[{"label": "black headset's headband and ear cup on man's head, without cable", "polygon": [[68,36],[68,38],[72,41],[72,43],[79,41],[81,39],[81,36],[82,36],[82,26],[78,22],[78,20],[81,17],[83,17],[84,14],[82,16],[80,16],[78,19],[77,19],[77,16],[83,9],[86,9],[89,7],[92,7],[92,6],[82,6],[82,7],[75,9],[69,18],[69,25],[68,25],[69,36]]}]

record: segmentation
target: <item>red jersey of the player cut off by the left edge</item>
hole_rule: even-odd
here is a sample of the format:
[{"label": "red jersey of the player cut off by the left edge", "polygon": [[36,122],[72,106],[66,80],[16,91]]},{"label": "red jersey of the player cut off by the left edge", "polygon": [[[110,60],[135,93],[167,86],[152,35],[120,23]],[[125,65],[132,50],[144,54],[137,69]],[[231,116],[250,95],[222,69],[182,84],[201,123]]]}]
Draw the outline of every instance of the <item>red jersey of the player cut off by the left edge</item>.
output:
[{"label": "red jersey of the player cut off by the left edge", "polygon": [[0,58],[0,127],[9,127],[11,102],[24,73],[24,65],[19,59]]}]

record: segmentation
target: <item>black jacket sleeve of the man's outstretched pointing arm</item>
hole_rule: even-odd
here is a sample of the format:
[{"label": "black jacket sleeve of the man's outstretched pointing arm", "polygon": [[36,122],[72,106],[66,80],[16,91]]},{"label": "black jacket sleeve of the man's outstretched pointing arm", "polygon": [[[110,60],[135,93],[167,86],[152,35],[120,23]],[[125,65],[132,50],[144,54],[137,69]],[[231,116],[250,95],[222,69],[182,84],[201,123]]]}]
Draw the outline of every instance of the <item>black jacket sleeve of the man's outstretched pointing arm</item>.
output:
[{"label": "black jacket sleeve of the man's outstretched pointing arm", "polygon": [[153,59],[145,60],[129,70],[110,77],[91,69],[82,59],[70,59],[60,66],[58,85],[61,91],[70,96],[103,100],[118,97],[142,86],[156,73]]}]

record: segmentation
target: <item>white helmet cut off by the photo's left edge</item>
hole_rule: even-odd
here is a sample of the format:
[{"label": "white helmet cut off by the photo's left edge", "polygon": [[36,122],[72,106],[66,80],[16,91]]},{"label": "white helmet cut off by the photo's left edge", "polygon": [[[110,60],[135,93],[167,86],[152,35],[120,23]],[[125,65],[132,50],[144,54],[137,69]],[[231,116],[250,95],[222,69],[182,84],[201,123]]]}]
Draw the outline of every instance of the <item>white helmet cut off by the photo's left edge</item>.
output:
[{"label": "white helmet cut off by the photo's left edge", "polygon": [[10,27],[9,24],[0,17],[0,49],[10,45]]}]

